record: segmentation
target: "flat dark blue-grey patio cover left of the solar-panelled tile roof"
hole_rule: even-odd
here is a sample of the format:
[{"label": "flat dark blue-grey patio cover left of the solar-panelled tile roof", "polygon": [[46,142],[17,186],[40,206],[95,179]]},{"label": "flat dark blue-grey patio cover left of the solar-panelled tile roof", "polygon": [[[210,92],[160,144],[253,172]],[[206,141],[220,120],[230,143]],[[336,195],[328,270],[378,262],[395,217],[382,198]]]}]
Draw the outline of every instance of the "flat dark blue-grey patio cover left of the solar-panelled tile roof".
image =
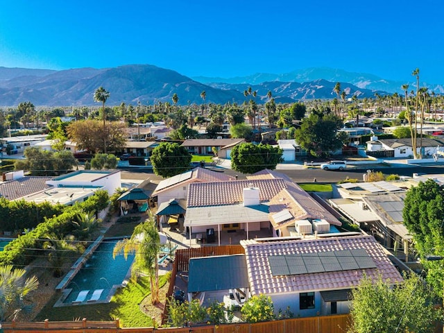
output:
[{"label": "flat dark blue-grey patio cover left of the solar-panelled tile roof", "polygon": [[245,255],[189,259],[188,293],[248,287]]}]

